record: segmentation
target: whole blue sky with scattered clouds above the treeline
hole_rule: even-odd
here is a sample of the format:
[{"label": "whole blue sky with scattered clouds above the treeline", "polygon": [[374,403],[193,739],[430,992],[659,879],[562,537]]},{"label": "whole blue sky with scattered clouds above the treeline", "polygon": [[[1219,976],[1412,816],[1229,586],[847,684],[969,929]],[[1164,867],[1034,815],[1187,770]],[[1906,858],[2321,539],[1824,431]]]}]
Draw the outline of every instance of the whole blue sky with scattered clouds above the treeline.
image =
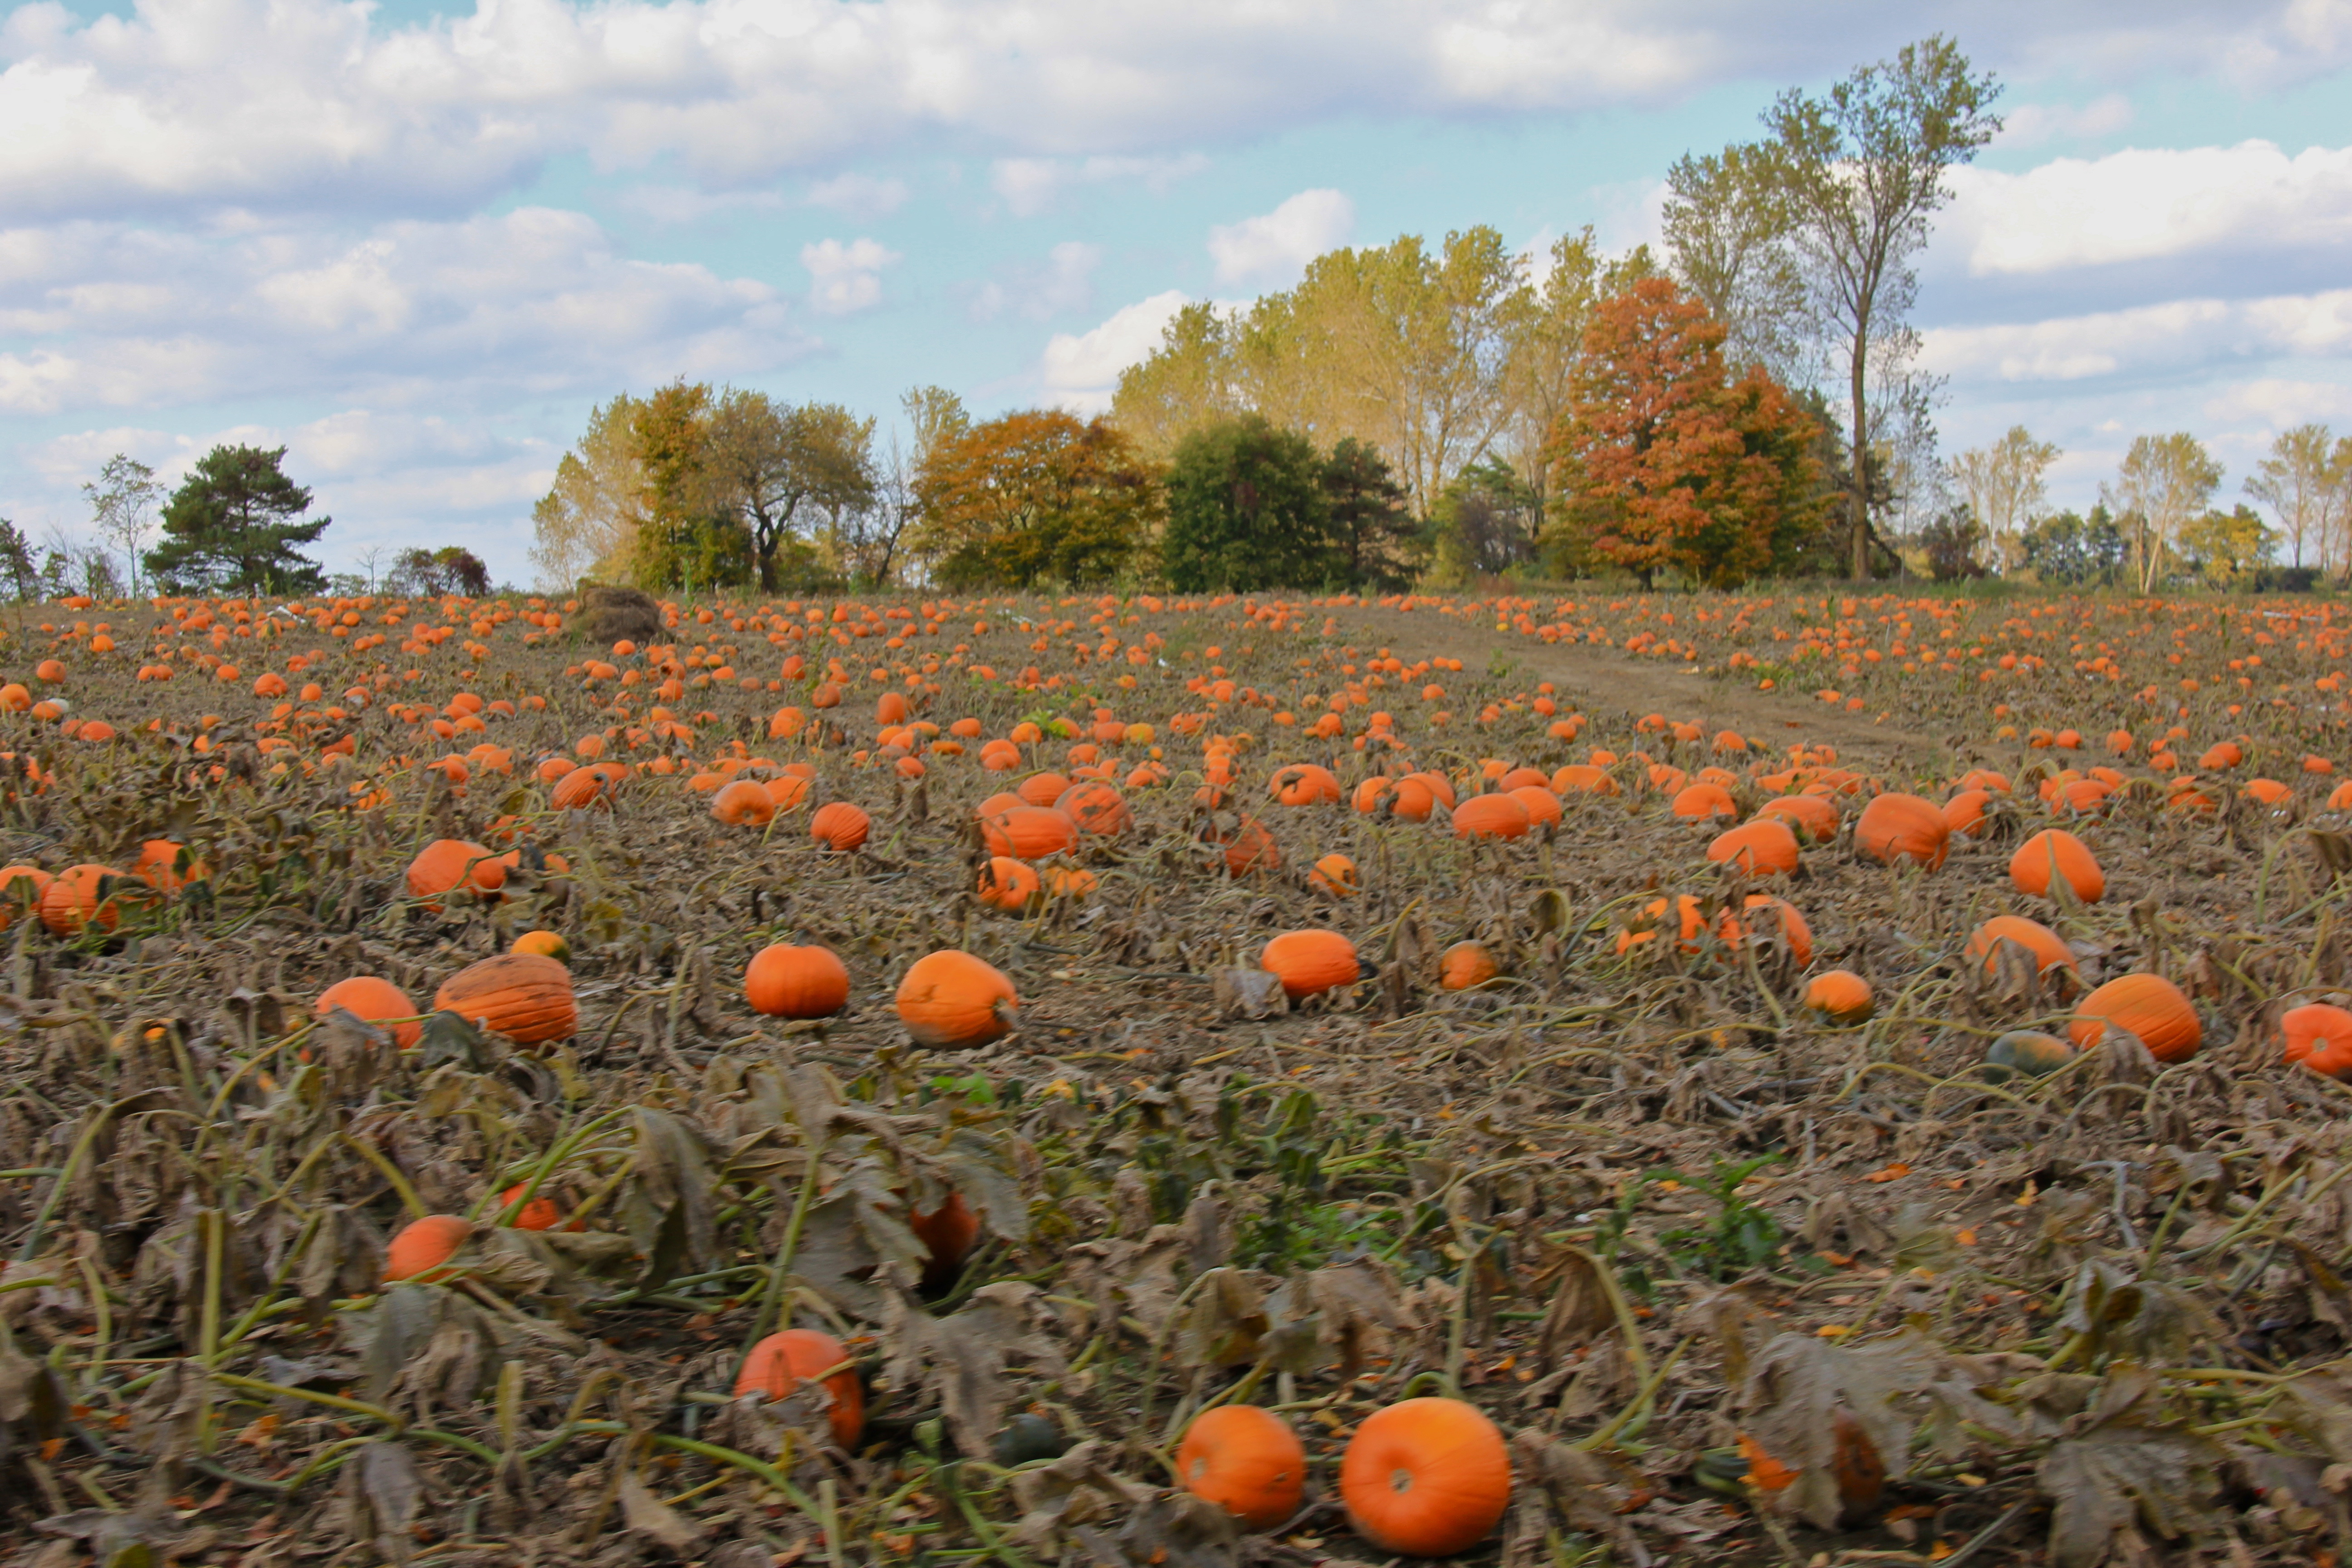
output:
[{"label": "whole blue sky with scattered clouds above the treeline", "polygon": [[1334,244],[1658,233],[1682,153],[1926,33],[2004,82],[1912,315],[1945,451],[2223,501],[2352,433],[2352,0],[0,0],[0,515],[287,447],[332,569],[529,583],[590,407],[1108,407],[1190,299]]}]

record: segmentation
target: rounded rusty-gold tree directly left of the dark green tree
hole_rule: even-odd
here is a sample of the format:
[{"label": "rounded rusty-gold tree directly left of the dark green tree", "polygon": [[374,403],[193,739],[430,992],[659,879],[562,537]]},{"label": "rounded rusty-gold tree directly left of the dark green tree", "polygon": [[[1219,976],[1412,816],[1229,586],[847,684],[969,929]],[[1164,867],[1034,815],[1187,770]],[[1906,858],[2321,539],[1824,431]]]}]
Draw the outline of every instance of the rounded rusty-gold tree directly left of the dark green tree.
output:
[{"label": "rounded rusty-gold tree directly left of the dark green tree", "polygon": [[1110,421],[1023,409],[950,440],[922,470],[910,548],[948,588],[1098,583],[1160,522],[1160,484]]}]

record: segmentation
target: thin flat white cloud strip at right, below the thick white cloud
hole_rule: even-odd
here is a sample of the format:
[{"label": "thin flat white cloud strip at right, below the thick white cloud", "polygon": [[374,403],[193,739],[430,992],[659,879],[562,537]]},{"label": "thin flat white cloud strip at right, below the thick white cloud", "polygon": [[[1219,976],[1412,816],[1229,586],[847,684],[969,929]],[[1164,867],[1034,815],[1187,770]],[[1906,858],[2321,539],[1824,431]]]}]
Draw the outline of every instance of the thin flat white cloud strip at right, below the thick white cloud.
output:
[{"label": "thin flat white cloud strip at right, below the thick white cloud", "polygon": [[2220,360],[2352,355],[2352,289],[2178,299],[2004,327],[1933,327],[1924,360],[1955,378],[2086,381]]}]

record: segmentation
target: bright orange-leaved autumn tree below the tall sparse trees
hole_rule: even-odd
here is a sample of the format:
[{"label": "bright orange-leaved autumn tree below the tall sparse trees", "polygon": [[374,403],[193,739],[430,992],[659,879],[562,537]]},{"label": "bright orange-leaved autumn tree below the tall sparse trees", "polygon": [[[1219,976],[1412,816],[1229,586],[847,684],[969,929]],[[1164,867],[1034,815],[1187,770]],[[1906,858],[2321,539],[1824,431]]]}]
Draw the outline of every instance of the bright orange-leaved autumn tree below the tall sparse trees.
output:
[{"label": "bright orange-leaved autumn tree below the tall sparse trees", "polygon": [[1665,277],[1602,301],[1552,463],[1602,559],[1729,588],[1785,569],[1820,527],[1816,425],[1762,367],[1724,367],[1724,324]]}]

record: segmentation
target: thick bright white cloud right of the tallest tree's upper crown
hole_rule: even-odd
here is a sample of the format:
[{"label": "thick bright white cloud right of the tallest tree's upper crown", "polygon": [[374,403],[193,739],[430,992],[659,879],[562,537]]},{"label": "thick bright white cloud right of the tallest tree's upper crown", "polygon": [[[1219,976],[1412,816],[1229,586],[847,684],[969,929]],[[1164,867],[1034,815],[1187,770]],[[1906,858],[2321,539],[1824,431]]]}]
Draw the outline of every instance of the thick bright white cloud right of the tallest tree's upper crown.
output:
[{"label": "thick bright white cloud right of the tallest tree's upper crown", "polygon": [[1976,277],[2352,244],[2352,148],[2126,148],[2025,174],[1957,169],[1952,188],[1938,244],[1964,254]]}]

